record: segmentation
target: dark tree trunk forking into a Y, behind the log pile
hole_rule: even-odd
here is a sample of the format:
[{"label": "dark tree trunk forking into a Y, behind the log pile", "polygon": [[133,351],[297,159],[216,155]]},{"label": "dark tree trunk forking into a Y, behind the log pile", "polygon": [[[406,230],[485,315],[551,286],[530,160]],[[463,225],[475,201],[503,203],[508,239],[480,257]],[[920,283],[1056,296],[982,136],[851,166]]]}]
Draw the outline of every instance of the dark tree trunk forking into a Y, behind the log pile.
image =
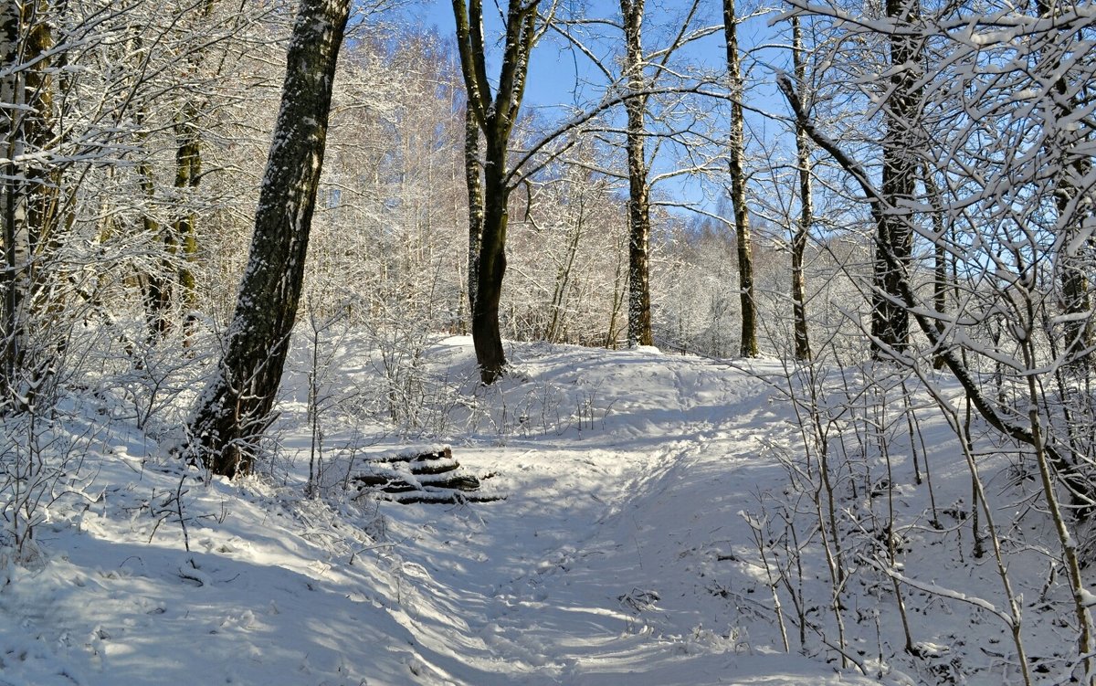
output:
[{"label": "dark tree trunk forking into a Y, behind the log pile", "polygon": [[[510,219],[510,134],[517,121],[525,94],[529,56],[537,36],[539,0],[510,0],[505,18],[505,39],[494,95],[487,76],[481,0],[454,0],[457,47],[468,94],[468,108],[483,133],[483,217],[469,205],[469,224],[481,224],[478,279],[472,304],[472,341],[476,362],[484,384],[498,379],[506,365],[499,330],[499,301],[506,272],[506,225]],[[469,136],[469,140],[471,136]],[[472,239],[469,239],[471,243]]]}]

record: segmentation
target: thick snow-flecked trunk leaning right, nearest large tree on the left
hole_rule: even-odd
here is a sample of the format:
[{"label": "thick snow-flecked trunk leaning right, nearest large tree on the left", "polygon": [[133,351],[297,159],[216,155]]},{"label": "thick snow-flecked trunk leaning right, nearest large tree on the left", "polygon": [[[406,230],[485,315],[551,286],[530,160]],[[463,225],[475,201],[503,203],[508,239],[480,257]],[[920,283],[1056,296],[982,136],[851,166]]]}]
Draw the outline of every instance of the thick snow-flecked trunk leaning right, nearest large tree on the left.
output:
[{"label": "thick snow-flecked trunk leaning right, nearest large tree on the left", "polygon": [[351,0],[301,0],[282,106],[259,195],[248,267],[217,375],[191,421],[191,449],[215,473],[251,469],[273,420],[304,279],[308,232]]}]

